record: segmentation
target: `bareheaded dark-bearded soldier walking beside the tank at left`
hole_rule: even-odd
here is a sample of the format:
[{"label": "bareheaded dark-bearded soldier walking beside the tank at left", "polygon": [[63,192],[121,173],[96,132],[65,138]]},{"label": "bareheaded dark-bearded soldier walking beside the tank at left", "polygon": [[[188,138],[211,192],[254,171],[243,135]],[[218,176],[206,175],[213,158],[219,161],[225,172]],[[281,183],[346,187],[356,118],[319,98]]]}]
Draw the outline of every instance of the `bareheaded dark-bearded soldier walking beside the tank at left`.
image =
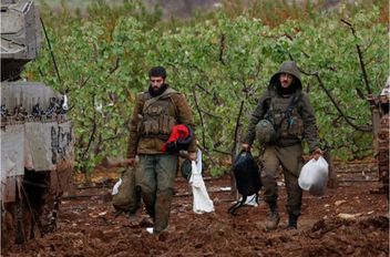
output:
[{"label": "bareheaded dark-bearded soldier walking beside the tank at left", "polygon": [[[164,145],[175,125],[192,130],[194,124],[185,96],[166,83],[165,69],[152,68],[148,78],[148,90],[138,95],[133,111],[126,163],[136,165],[135,181],[154,220],[152,232],[160,235],[168,225],[178,161],[177,153],[166,152]],[[187,151],[189,158],[195,160],[194,136]]]}]

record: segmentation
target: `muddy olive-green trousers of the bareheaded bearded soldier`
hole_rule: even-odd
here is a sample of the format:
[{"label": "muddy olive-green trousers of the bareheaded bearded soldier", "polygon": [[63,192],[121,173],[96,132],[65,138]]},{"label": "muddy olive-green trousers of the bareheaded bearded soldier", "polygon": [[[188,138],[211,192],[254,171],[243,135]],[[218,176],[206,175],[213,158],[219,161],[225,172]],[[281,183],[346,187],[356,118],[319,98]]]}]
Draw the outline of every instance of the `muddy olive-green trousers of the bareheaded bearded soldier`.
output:
[{"label": "muddy olive-green trousers of the bareheaded bearded soldier", "polygon": [[168,225],[177,156],[145,154],[138,157],[135,181],[146,212],[154,220],[153,230],[160,233]]}]

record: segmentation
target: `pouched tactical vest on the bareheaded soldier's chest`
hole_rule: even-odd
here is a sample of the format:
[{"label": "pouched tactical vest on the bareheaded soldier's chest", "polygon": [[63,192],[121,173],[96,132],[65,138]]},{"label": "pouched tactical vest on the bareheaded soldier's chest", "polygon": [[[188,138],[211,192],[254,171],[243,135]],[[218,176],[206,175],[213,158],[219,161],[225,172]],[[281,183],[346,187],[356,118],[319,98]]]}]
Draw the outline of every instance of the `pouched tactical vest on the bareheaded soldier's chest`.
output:
[{"label": "pouched tactical vest on the bareheaded soldier's chest", "polygon": [[167,89],[155,97],[146,94],[138,123],[138,133],[142,137],[168,140],[172,127],[177,124],[176,105],[172,99],[174,93],[176,91]]}]

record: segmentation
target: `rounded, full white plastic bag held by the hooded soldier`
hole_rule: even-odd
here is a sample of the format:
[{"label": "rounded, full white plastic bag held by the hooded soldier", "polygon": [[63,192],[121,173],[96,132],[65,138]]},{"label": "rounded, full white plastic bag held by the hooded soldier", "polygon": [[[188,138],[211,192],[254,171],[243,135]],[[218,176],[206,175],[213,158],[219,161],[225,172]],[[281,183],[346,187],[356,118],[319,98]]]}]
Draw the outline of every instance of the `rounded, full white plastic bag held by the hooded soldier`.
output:
[{"label": "rounded, full white plastic bag held by the hooded soldier", "polygon": [[307,162],[298,177],[299,187],[315,196],[325,194],[328,183],[328,163],[322,156]]}]

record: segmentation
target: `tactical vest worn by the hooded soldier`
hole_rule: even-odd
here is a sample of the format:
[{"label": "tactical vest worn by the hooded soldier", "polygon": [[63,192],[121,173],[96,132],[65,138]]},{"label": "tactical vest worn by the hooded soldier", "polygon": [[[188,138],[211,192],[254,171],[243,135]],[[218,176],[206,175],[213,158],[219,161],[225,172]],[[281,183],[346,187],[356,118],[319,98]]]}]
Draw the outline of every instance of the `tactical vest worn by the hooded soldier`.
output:
[{"label": "tactical vest worn by the hooded soldier", "polygon": [[300,95],[292,94],[290,97],[270,97],[269,107],[265,119],[274,124],[279,137],[298,137],[304,135],[304,121],[298,110]]}]

